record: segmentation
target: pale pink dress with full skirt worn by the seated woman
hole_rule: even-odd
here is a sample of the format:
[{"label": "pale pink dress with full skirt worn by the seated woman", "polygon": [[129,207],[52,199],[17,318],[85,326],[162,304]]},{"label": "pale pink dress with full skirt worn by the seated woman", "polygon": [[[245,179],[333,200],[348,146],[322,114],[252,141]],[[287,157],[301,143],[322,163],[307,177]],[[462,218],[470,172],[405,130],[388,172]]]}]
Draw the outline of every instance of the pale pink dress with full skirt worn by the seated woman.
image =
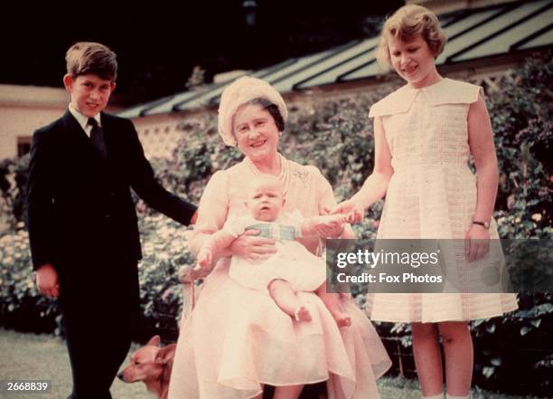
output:
[{"label": "pale pink dress with full skirt worn by the seated woman", "polygon": [[[286,212],[305,217],[336,203],[331,185],[313,166],[282,159]],[[218,231],[227,218],[245,214],[244,194],[258,169],[246,158],[215,173],[200,203],[195,232]],[[316,252],[318,240],[302,241]],[[298,292],[313,316],[297,322],[266,294],[230,279],[230,258],[218,262],[191,317],[181,327],[173,361],[169,399],[246,399],[261,385],[327,381],[331,399],[379,398],[376,379],[390,366],[389,356],[368,318],[344,299],[352,325],[338,328],[323,302]]]}]

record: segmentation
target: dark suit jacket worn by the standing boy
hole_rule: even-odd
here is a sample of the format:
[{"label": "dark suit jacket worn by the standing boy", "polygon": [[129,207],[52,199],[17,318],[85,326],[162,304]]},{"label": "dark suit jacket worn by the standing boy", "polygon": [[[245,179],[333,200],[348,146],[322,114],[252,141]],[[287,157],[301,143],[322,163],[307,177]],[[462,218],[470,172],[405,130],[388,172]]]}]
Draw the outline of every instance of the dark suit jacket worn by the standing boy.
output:
[{"label": "dark suit jacket worn by the standing boy", "polygon": [[102,113],[101,125],[107,160],[69,111],[33,135],[27,188],[33,268],[52,263],[61,280],[136,274],[142,255],[130,187],[177,222],[190,223],[196,210],[157,183],[130,120]]}]

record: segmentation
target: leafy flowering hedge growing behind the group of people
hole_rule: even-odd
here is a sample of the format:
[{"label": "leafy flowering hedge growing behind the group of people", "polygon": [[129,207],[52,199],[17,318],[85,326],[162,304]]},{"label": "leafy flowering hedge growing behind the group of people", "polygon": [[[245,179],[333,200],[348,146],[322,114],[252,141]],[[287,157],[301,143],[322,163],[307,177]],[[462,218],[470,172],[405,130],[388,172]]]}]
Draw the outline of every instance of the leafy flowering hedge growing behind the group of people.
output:
[{"label": "leafy flowering hedge growing behind the group of people", "polygon": [[[551,54],[528,58],[515,71],[514,81],[500,92],[488,93],[487,104],[495,133],[501,171],[495,217],[501,237],[553,236],[551,167],[553,93]],[[372,125],[368,109],[389,90],[401,84],[366,90],[355,96],[307,98],[290,109],[280,150],[290,159],[318,166],[334,187],[339,200],[352,195],[370,173],[373,161]],[[197,203],[213,172],[241,159],[239,151],[224,147],[217,134],[216,116],[206,112],[200,119],[180,126],[183,138],[170,159],[156,159],[155,169],[164,185]],[[27,235],[23,231],[22,187],[28,160],[6,160],[0,165],[0,280],[2,323],[7,327],[50,330],[56,327],[55,302],[40,297],[33,287]],[[373,238],[382,202],[375,204],[355,230]],[[161,330],[165,337],[177,334],[176,317],[182,308],[176,271],[193,258],[186,248],[190,229],[178,226],[138,201],[144,261],[140,264],[141,302],[145,330]],[[502,391],[539,394],[548,392],[553,368],[553,300],[551,294],[520,295],[520,310],[505,318],[472,323],[475,379],[478,385]],[[357,292],[362,307],[364,296]],[[22,322],[23,320],[31,320]],[[23,326],[23,327],[22,327]],[[410,347],[410,328],[404,324],[379,323],[381,337],[398,339]]]}]

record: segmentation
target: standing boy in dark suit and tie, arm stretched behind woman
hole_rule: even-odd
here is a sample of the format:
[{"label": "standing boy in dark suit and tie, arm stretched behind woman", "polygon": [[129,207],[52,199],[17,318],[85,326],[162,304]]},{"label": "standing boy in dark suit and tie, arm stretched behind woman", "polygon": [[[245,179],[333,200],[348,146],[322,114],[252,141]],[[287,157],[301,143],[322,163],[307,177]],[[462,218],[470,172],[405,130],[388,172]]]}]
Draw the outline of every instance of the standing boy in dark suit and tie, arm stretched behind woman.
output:
[{"label": "standing boy in dark suit and tie, arm stretched behind woman", "polygon": [[116,54],[75,43],[66,54],[69,110],[33,135],[27,225],[36,283],[59,297],[72,399],[110,398],[138,315],[141,258],[130,187],[183,224],[196,207],[164,190],[128,119],[102,112],[116,87]]}]

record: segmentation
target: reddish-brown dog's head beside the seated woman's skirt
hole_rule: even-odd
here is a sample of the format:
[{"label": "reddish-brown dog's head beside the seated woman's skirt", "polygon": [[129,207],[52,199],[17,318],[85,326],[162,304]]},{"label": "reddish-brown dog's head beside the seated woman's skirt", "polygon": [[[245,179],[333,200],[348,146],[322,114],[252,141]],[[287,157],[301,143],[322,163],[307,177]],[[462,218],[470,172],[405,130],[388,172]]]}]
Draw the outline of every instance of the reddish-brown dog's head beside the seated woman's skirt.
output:
[{"label": "reddish-brown dog's head beside the seated woman's skirt", "polygon": [[138,349],[130,358],[130,365],[117,375],[126,383],[168,380],[173,366],[176,345],[159,347],[160,337],[152,337],[145,347]]}]

